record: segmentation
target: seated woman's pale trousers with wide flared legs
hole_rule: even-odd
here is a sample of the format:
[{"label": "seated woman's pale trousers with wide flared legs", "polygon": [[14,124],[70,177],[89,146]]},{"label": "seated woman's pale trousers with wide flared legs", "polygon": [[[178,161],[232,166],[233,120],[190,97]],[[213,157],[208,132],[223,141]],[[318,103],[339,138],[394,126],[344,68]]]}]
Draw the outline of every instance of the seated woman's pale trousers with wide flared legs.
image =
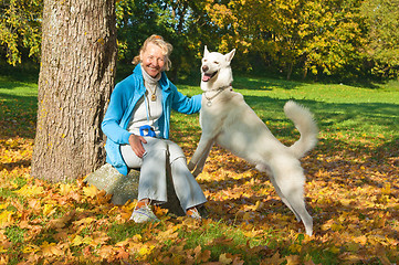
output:
[{"label": "seated woman's pale trousers with wide flared legs", "polygon": [[136,156],[129,145],[120,146],[122,156],[128,168],[140,168],[138,200],[149,199],[157,203],[167,202],[167,172],[170,169],[175,192],[186,211],[207,202],[201,187],[187,168],[181,148],[165,139],[145,137],[146,155]]}]

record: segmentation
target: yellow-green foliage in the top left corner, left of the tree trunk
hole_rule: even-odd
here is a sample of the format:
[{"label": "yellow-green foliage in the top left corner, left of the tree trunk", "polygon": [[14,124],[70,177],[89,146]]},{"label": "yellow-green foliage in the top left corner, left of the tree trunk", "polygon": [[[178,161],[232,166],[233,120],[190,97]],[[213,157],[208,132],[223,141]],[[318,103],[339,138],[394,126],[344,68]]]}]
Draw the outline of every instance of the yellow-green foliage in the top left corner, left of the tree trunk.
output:
[{"label": "yellow-green foliage in the top left corner, left of the tree trunk", "polygon": [[42,0],[0,1],[0,55],[21,63],[22,51],[38,60],[41,45]]}]

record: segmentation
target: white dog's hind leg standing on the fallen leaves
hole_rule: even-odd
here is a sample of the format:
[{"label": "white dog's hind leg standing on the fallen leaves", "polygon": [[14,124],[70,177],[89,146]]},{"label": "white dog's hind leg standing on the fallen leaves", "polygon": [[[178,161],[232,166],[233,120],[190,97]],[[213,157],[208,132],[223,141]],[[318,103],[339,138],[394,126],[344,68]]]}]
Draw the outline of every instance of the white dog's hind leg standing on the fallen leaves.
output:
[{"label": "white dog's hind leg standing on the fallen leaves", "polygon": [[274,187],[279,187],[282,198],[285,198],[286,200],[285,204],[290,205],[291,208],[288,208],[296,213],[295,215],[300,216],[305,225],[306,234],[312,235],[313,219],[305,206],[305,177],[300,161],[286,156],[277,156],[273,158],[273,161],[271,161],[271,170],[274,176]]}]

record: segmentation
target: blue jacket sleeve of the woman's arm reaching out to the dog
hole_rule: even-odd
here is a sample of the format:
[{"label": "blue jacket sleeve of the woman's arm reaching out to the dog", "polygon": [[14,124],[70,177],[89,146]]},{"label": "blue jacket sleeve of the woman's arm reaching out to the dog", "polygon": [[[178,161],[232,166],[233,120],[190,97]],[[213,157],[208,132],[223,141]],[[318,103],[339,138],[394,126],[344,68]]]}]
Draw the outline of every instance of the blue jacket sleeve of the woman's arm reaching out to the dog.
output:
[{"label": "blue jacket sleeve of the woman's arm reaching out to the dog", "polygon": [[170,84],[172,89],[172,109],[183,114],[195,114],[201,110],[202,95],[195,95],[188,97],[178,92],[174,84]]}]

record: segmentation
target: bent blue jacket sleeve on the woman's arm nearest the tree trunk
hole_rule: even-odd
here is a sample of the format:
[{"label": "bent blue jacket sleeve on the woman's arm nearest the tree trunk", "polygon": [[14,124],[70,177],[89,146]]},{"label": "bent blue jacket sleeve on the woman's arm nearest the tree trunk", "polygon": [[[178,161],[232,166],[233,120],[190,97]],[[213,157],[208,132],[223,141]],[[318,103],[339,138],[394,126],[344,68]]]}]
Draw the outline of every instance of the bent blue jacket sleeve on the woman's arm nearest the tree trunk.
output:
[{"label": "bent blue jacket sleeve on the woman's arm nearest the tree trunk", "polygon": [[105,113],[102,130],[112,141],[125,145],[129,144],[129,136],[125,128],[120,127],[120,121],[128,107],[128,96],[125,95],[127,89],[119,83],[115,86],[109,99],[107,112]]}]

